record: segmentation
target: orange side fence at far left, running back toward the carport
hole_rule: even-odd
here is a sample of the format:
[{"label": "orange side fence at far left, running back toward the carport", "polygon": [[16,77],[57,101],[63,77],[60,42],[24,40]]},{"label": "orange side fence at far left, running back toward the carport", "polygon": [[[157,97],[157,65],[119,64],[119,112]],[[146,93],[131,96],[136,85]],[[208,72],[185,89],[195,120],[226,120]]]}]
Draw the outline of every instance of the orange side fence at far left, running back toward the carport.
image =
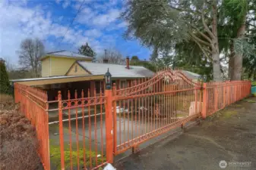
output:
[{"label": "orange side fence at far left, running back toward the carport", "polygon": [[43,167],[50,169],[49,163],[49,126],[47,94],[27,85],[14,84],[15,102],[20,103],[20,110],[36,128],[36,137],[39,141],[38,153]]}]

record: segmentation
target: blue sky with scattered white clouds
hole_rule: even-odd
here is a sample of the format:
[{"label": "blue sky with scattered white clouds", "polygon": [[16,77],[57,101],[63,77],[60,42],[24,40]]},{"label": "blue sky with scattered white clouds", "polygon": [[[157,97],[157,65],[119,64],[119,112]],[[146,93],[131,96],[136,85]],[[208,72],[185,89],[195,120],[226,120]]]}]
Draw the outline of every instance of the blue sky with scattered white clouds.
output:
[{"label": "blue sky with scattered white clouds", "polygon": [[46,51],[77,51],[80,45],[88,42],[97,54],[105,48],[116,48],[124,56],[137,55],[143,60],[148,59],[148,48],[137,40],[123,39],[127,25],[119,19],[125,4],[122,0],[85,0],[68,30],[82,2],[0,0],[0,57],[17,63],[21,41],[37,37],[43,40]]}]

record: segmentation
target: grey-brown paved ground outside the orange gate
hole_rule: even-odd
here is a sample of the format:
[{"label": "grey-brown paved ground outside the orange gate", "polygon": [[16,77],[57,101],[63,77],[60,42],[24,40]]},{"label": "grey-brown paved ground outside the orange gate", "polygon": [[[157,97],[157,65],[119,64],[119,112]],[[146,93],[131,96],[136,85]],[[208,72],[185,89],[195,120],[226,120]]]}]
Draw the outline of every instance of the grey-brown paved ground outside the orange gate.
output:
[{"label": "grey-brown paved ground outside the orange gate", "polygon": [[256,169],[255,102],[256,97],[249,97],[232,104],[185,133],[178,132],[121,159],[115,168]]}]

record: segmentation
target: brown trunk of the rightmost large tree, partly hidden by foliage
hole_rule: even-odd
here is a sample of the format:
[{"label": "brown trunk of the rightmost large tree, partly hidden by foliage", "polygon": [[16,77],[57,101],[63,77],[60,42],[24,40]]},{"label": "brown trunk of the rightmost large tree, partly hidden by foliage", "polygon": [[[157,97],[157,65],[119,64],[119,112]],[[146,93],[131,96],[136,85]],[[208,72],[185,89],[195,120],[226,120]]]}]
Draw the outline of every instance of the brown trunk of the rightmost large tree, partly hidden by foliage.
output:
[{"label": "brown trunk of the rightmost large tree, partly hidden by foliage", "polygon": [[[245,15],[246,17],[246,15]],[[245,37],[245,18],[242,25],[237,31],[237,38],[241,39]],[[233,70],[233,79],[232,80],[241,80],[242,79],[242,54],[235,53],[234,56],[234,70]]]}]

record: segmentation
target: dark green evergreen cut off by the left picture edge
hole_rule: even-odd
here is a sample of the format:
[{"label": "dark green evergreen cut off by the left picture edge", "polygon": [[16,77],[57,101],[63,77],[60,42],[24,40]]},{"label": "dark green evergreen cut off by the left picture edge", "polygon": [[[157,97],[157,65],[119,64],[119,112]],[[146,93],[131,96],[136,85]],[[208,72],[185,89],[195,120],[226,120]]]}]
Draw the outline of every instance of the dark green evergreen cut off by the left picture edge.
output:
[{"label": "dark green evergreen cut off by the left picture edge", "polygon": [[10,93],[10,83],[8,79],[8,73],[5,67],[5,60],[0,58],[0,94]]}]

